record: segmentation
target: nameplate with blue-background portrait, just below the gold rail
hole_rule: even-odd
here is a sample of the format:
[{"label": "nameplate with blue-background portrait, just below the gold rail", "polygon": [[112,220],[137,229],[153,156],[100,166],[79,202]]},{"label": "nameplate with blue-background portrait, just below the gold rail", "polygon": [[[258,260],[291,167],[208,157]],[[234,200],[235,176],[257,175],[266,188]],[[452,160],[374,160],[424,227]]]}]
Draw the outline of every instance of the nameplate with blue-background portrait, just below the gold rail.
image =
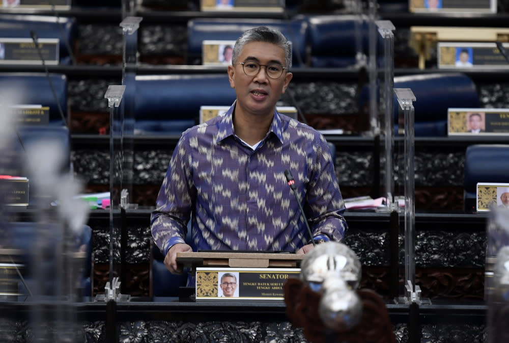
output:
[{"label": "nameplate with blue-background portrait, just below the gold rail", "polygon": [[[495,43],[438,42],[439,68],[509,69]],[[509,48],[509,43],[502,44]]]}]

